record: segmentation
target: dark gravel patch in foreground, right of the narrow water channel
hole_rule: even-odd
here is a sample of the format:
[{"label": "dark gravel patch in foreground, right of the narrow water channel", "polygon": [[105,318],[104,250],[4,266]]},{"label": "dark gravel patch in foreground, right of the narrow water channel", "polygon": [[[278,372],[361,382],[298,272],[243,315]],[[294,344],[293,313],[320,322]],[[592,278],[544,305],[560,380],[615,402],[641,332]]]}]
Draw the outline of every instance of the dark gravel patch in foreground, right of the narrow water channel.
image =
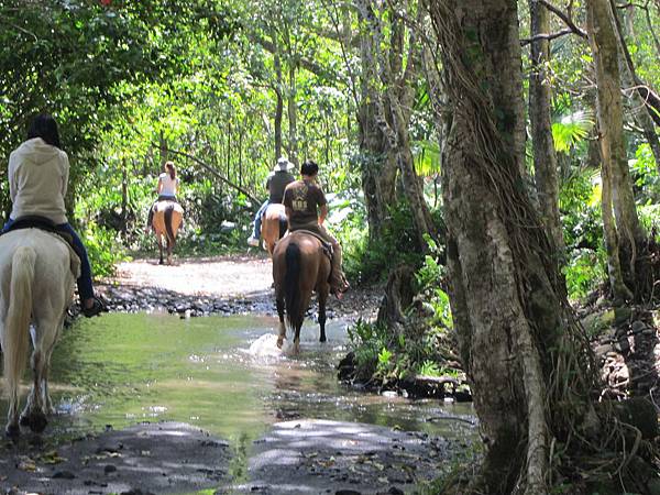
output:
[{"label": "dark gravel patch in foreground, right of the narrow water channel", "polygon": [[254,444],[250,483],[232,493],[402,494],[437,477],[453,447],[421,432],[298,419]]}]

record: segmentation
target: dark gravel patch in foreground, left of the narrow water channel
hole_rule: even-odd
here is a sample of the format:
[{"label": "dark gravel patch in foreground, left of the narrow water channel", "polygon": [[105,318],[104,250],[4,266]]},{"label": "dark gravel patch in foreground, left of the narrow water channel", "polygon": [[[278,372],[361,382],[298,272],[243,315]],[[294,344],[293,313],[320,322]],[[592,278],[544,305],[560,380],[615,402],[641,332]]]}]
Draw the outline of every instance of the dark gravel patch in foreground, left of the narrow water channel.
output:
[{"label": "dark gravel patch in foreground, left of the narrow water channel", "polygon": [[228,481],[230,457],[227,442],[193,426],[141,424],[62,444],[48,459],[29,446],[0,450],[0,493],[197,492]]}]

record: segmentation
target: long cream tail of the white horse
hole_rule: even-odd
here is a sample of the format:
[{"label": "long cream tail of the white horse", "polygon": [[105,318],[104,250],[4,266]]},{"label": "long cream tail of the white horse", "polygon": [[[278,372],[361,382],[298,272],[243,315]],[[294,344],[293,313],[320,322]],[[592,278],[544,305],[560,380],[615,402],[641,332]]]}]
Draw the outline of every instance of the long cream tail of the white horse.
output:
[{"label": "long cream tail of the white horse", "polygon": [[9,309],[4,326],[4,380],[10,405],[16,405],[19,382],[25,369],[28,336],[32,317],[32,280],[36,253],[32,248],[19,248],[11,261]]}]

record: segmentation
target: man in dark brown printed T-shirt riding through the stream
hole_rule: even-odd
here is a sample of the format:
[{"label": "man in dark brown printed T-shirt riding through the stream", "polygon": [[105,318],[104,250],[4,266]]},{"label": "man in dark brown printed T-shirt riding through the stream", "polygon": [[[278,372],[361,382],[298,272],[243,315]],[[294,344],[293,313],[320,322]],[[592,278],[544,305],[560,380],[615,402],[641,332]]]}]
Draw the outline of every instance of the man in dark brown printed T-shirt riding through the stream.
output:
[{"label": "man in dark brown printed T-shirt riding through the stream", "polygon": [[349,288],[349,283],[341,270],[341,245],[323,227],[328,217],[328,201],[317,184],[318,173],[319,166],[315,162],[305,162],[300,166],[301,179],[286,186],[283,202],[286,207],[289,232],[307,230],[332,244],[330,292],[341,298]]}]

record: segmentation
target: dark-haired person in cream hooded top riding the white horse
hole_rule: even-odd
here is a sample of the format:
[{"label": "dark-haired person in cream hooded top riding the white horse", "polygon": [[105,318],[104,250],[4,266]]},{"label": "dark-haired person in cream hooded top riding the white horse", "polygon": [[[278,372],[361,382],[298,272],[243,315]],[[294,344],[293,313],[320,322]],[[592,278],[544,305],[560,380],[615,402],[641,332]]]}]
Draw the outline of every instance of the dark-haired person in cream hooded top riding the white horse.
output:
[{"label": "dark-haired person in cream hooded top riding the white horse", "polygon": [[9,195],[12,210],[2,232],[21,217],[42,217],[54,223],[55,230],[72,237],[73,248],[80,257],[78,294],[82,315],[99,315],[105,305],[94,294],[91,266],[87,250],[66,218],[64,197],[68,186],[69,162],[59,144],[57,122],[53,117],[34,118],[28,140],[9,155]]}]

